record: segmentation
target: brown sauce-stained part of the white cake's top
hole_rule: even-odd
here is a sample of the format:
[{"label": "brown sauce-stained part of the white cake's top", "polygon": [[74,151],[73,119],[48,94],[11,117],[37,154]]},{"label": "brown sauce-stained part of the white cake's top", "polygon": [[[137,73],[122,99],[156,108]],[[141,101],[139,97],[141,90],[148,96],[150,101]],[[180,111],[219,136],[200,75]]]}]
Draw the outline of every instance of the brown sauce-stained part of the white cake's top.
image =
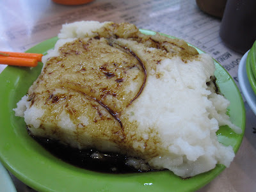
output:
[{"label": "brown sauce-stained part of the white cake's top", "polygon": [[[143,92],[147,72],[154,72],[163,59],[173,56],[185,62],[195,60],[198,52],[183,40],[143,35],[127,23],[108,24],[96,32],[93,37],[67,42],[58,50],[59,56],[47,60],[29,89],[31,106],[45,110],[40,127],[51,125],[49,131],[58,138],[61,131],[56,119],[65,111],[76,125],[78,141],[80,133],[86,132],[95,140],[111,138],[127,148],[134,145],[137,126],[122,116],[122,111]],[[159,72],[153,75],[161,77]],[[84,114],[86,124],[81,123]],[[154,153],[158,138],[153,129],[148,134],[154,134],[154,139],[143,147]],[[137,133],[136,140],[143,140],[143,136]]]}]

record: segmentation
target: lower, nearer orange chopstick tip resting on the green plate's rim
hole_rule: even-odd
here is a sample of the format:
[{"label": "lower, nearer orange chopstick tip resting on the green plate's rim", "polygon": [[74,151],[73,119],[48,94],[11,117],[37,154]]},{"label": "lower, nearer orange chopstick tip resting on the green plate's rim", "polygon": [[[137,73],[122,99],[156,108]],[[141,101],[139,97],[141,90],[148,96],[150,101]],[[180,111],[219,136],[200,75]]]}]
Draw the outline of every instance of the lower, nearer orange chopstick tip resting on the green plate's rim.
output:
[{"label": "lower, nearer orange chopstick tip resting on the green plate's rim", "polygon": [[22,67],[36,67],[36,59],[31,58],[13,58],[10,56],[0,56],[0,64],[16,65]]}]

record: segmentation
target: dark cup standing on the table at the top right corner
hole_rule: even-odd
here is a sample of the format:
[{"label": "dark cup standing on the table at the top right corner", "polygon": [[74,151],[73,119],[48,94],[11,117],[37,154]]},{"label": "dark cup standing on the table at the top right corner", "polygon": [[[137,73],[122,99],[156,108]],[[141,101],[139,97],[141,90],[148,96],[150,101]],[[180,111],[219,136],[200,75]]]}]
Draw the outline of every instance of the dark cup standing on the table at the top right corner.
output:
[{"label": "dark cup standing on the table at the top right corner", "polygon": [[244,54],[256,40],[256,0],[228,0],[220,37],[234,51]]}]

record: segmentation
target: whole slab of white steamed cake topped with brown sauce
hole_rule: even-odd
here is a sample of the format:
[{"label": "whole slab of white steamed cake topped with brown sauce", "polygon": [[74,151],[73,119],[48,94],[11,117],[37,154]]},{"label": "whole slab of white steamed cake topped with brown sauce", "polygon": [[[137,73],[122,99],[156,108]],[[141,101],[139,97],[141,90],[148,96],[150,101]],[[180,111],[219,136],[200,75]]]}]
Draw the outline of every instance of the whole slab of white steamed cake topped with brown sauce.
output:
[{"label": "whole slab of white steamed cake topped with brown sauce", "polygon": [[74,22],[58,37],[14,109],[33,136],[138,157],[183,178],[229,166],[234,151],[216,131],[241,129],[216,93],[211,56],[128,23]]}]

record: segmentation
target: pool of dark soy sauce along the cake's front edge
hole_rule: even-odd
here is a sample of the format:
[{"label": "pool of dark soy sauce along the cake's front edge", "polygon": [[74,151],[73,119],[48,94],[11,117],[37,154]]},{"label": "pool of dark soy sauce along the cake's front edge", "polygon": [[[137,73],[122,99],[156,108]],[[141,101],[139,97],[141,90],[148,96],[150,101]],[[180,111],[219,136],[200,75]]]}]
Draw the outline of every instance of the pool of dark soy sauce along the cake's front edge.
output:
[{"label": "pool of dark soy sauce along the cake's front edge", "polygon": [[129,157],[122,154],[102,153],[95,149],[79,150],[68,145],[63,145],[59,141],[48,140],[32,136],[42,147],[48,150],[52,155],[58,157],[66,163],[79,168],[92,170],[101,173],[141,173],[157,170],[137,170],[127,164]]}]

